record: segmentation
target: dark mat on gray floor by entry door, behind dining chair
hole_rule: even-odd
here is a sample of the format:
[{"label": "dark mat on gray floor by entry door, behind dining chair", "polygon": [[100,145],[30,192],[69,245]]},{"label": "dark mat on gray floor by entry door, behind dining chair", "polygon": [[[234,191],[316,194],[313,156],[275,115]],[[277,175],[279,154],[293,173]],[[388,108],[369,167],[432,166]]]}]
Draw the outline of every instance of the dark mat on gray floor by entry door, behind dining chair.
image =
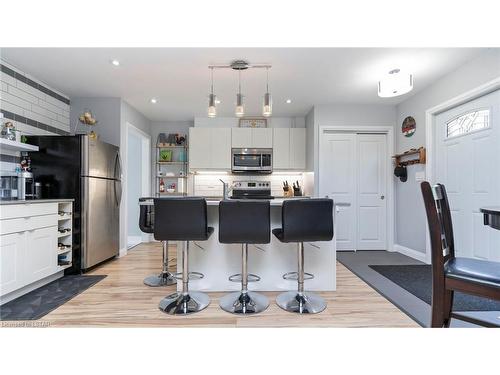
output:
[{"label": "dark mat on gray floor by entry door, behind dining chair", "polygon": [[[369,265],[422,301],[431,304],[432,269],[430,265]],[[500,311],[500,301],[455,292],[454,311]]]}]

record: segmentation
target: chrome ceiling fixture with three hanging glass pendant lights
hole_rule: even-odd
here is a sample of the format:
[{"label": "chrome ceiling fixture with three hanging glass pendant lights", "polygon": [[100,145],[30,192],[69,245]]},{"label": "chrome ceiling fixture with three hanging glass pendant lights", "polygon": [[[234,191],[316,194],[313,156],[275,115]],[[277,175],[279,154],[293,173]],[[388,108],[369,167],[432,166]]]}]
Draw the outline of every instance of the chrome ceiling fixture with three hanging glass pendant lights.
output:
[{"label": "chrome ceiling fixture with three hanging glass pendant lights", "polygon": [[[213,70],[214,69],[232,69],[238,71],[238,92],[236,93],[236,108],[234,114],[236,117],[245,115],[245,106],[243,103],[243,94],[241,93],[241,71],[252,68],[265,68],[269,71],[271,65],[269,64],[250,64],[245,60],[234,60],[230,64],[209,65],[211,70],[211,90],[208,96],[208,117],[215,117],[217,115],[216,104],[220,103],[213,92]],[[272,114],[272,98],[269,94],[269,73],[267,72],[266,93],[264,94],[264,103],[262,106],[262,115],[269,117]]]}]

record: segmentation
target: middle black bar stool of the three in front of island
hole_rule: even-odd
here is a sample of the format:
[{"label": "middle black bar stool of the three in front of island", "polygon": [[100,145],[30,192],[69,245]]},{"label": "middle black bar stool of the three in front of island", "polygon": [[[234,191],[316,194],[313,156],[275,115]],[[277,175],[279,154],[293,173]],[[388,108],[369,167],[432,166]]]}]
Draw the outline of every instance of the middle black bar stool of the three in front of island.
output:
[{"label": "middle black bar stool of the three in front of island", "polygon": [[256,314],[269,306],[266,296],[250,292],[248,282],[260,277],[248,273],[248,244],[271,241],[269,201],[229,201],[219,204],[219,242],[241,244],[241,274],[232,275],[230,281],[241,281],[241,291],[226,294],[220,299],[222,310],[233,314]]}]

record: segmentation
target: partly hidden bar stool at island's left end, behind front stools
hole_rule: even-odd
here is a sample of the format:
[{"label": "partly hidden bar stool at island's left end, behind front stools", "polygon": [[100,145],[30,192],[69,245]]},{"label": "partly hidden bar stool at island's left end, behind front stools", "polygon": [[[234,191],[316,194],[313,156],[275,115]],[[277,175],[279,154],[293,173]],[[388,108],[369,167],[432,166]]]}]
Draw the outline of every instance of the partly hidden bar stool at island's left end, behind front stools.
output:
[{"label": "partly hidden bar stool at island's left end, behind front stools", "polygon": [[[153,198],[139,198],[139,228],[144,233],[154,233],[154,206]],[[177,281],[168,271],[168,241],[161,242],[163,247],[162,270],[158,275],[151,275],[144,279],[147,286],[173,285]]]}]

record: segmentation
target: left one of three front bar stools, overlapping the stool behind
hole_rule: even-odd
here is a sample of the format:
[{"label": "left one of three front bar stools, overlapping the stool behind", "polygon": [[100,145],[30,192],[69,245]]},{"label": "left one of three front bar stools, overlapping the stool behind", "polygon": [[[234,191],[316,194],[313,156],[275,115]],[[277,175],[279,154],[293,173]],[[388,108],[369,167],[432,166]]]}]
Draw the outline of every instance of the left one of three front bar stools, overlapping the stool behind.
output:
[{"label": "left one of three front bar stools, overlapping the stool behind", "polygon": [[171,294],[160,302],[160,310],[170,315],[187,315],[203,310],[210,303],[207,294],[189,291],[189,280],[202,278],[189,272],[189,241],[206,241],[214,232],[207,226],[207,201],[204,198],[155,198],[154,236],[159,241],[186,241],[182,249],[182,292]]}]

